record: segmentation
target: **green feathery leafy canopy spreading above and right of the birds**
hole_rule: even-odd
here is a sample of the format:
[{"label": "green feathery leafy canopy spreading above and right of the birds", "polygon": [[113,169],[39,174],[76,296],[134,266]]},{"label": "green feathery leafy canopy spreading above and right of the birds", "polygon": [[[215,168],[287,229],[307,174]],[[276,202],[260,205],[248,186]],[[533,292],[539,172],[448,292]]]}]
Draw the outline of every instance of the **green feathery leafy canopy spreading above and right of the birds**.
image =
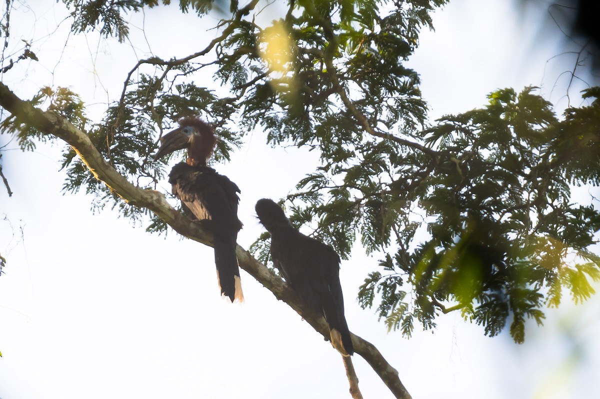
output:
[{"label": "green feathery leafy canopy spreading above and right of the birds", "polygon": [[[64,2],[74,32],[119,41],[127,13],[170,3]],[[440,312],[460,310],[487,335],[508,321],[522,342],[525,320],[541,324],[544,306],[559,305],[563,289],[583,301],[590,280],[600,280],[597,201],[575,203],[571,192],[600,181],[600,89],[560,118],[530,87],[498,90],[481,109],[428,124],[418,74],[404,63],[445,2],[291,0],[261,26],[257,16],[269,6],[257,0],[241,8],[181,0],[184,12],[217,10],[218,36],[181,59],[140,60],[103,121],[88,121],[67,89],[43,89],[32,101],[88,131],[140,187],[164,177],[163,161],[149,157],[163,128],[191,113],[215,125],[216,161],[254,128],[271,145],[314,149],[321,165],[282,203],[293,223],[311,224],[342,257],[357,242],[381,257],[359,289],[362,307],[376,307],[389,329],[406,335],[415,320],[432,328]],[[220,87],[196,83],[207,73]],[[9,118],[4,127],[32,149],[37,133],[23,121]],[[95,181],[73,151],[63,167],[65,191],[84,188],[95,206],[145,214]],[[149,230],[166,228],[149,216]],[[265,261],[267,243],[265,234],[253,246]]]}]

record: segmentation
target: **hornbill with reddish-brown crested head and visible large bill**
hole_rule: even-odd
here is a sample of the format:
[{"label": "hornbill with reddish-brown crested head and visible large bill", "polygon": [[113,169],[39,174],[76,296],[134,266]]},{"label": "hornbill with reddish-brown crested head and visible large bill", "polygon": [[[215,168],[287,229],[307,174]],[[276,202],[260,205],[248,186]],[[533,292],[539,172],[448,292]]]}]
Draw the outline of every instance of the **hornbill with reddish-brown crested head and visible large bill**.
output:
[{"label": "hornbill with reddish-brown crested head and visible large bill", "polygon": [[155,159],[187,149],[187,162],[173,166],[169,183],[188,216],[195,217],[214,236],[215,263],[221,295],[244,301],[235,247],[242,223],[238,219],[238,186],[219,175],[206,160],[217,143],[212,127],[196,116],[179,121],[179,127],[161,139]]}]

